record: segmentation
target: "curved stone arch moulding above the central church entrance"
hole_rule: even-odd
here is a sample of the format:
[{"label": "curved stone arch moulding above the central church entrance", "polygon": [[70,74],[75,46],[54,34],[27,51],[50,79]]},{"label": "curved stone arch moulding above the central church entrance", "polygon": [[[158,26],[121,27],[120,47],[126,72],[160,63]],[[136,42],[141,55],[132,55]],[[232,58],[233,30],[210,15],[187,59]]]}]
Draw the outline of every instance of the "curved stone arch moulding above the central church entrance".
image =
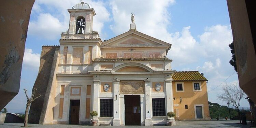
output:
[{"label": "curved stone arch moulding above the central church entrance", "polygon": [[140,72],[140,73],[143,73],[143,74],[150,74],[150,73],[153,73],[154,70],[151,69],[150,67],[147,67],[141,63],[134,63],[134,62],[130,62],[130,63],[124,63],[122,65],[119,65],[117,67],[115,67],[114,69],[111,70],[111,73],[115,74],[115,73],[125,73],[125,74],[134,74],[134,72],[116,72],[120,69],[123,69],[123,68],[126,68],[126,67],[139,67],[139,68],[142,68],[144,70],[146,70],[146,72]]}]

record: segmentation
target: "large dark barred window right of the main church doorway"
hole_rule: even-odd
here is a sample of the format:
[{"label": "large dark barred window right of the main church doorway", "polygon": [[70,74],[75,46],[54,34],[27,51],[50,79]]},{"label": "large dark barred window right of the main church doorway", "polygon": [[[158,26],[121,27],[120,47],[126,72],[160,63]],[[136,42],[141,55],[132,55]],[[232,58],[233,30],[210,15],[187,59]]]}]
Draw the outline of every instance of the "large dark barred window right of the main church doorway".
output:
[{"label": "large dark barred window right of the main church doorway", "polygon": [[153,116],[166,116],[165,98],[152,99]]}]

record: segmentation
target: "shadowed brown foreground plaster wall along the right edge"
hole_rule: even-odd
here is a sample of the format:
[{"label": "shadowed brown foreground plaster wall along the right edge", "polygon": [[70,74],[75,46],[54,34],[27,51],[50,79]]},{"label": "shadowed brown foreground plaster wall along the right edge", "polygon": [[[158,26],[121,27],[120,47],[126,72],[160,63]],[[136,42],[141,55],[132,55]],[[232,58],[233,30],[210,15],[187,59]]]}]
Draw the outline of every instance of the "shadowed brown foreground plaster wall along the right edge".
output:
[{"label": "shadowed brown foreground plaster wall along the right edge", "polygon": [[[240,88],[256,102],[255,1],[227,0]],[[251,21],[250,21],[251,20]]]}]

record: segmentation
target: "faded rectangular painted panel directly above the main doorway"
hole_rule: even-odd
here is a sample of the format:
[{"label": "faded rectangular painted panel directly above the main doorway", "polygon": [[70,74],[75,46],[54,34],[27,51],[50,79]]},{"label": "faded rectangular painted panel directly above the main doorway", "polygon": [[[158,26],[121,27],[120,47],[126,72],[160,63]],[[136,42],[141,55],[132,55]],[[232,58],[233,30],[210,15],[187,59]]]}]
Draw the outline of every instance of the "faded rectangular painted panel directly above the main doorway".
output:
[{"label": "faded rectangular painted panel directly above the main doorway", "polygon": [[120,94],[145,94],[145,82],[120,81]]}]

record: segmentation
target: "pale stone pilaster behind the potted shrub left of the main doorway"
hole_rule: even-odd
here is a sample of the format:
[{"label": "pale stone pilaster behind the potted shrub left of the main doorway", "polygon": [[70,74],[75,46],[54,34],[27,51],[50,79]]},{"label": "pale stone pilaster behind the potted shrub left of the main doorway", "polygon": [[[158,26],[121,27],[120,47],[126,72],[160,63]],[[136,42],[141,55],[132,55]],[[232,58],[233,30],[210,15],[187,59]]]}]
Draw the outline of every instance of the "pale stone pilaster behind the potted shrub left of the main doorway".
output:
[{"label": "pale stone pilaster behind the potted shrub left of the main doorway", "polygon": [[[99,113],[99,89],[100,89],[100,80],[93,80],[93,111],[97,111]],[[99,125],[98,116],[94,117],[95,121],[97,121],[97,125]]]}]

